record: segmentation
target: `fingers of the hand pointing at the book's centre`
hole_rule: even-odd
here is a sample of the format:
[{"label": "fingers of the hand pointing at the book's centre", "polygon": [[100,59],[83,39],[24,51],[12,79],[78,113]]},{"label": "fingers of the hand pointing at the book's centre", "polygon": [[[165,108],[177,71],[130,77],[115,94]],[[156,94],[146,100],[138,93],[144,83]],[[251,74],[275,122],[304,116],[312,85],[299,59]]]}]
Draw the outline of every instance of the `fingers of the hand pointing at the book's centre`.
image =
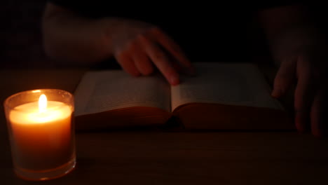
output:
[{"label": "fingers of the hand pointing at the book's centre", "polygon": [[132,76],[152,74],[156,67],[171,85],[177,85],[179,71],[195,74],[181,48],[158,28],[139,33],[116,53],[121,67]]}]

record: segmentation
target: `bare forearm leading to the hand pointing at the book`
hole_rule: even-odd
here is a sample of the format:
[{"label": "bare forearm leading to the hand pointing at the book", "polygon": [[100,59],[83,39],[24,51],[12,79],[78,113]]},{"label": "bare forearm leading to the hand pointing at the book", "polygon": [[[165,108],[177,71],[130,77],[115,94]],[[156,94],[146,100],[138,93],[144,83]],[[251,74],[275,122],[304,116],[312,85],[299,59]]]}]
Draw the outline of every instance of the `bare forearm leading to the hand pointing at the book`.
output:
[{"label": "bare forearm leading to the hand pointing at the book", "polygon": [[89,65],[111,57],[104,20],[81,18],[48,4],[43,16],[46,54],[65,64]]}]

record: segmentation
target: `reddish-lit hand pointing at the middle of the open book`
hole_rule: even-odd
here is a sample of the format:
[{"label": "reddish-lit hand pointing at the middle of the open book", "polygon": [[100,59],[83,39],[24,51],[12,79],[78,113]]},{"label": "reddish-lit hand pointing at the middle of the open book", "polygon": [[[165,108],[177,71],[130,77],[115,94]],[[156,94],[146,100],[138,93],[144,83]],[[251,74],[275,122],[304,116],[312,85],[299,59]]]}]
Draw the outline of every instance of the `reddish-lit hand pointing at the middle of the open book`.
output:
[{"label": "reddish-lit hand pointing at the middle of the open book", "polygon": [[118,20],[115,27],[109,27],[109,32],[114,57],[132,76],[150,75],[157,68],[171,85],[177,85],[179,72],[194,73],[182,49],[158,27]]}]

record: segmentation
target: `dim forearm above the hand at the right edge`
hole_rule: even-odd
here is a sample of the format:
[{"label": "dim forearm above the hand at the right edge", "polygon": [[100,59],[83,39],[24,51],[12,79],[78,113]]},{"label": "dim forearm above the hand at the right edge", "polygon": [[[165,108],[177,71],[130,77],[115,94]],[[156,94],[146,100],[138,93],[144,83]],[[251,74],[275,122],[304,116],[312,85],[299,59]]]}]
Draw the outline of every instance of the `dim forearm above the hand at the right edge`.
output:
[{"label": "dim forearm above the hand at the right edge", "polygon": [[321,38],[306,6],[282,6],[260,13],[261,25],[275,62],[286,53],[311,48]]}]

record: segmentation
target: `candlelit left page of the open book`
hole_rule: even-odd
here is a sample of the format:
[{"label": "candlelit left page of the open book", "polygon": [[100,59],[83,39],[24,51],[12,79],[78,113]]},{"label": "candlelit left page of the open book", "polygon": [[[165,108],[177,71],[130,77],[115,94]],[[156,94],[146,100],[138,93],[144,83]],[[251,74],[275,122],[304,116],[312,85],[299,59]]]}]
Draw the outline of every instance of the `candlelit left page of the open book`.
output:
[{"label": "candlelit left page of the open book", "polygon": [[128,107],[170,111],[170,85],[161,76],[132,77],[125,71],[89,71],[74,93],[76,116]]}]

